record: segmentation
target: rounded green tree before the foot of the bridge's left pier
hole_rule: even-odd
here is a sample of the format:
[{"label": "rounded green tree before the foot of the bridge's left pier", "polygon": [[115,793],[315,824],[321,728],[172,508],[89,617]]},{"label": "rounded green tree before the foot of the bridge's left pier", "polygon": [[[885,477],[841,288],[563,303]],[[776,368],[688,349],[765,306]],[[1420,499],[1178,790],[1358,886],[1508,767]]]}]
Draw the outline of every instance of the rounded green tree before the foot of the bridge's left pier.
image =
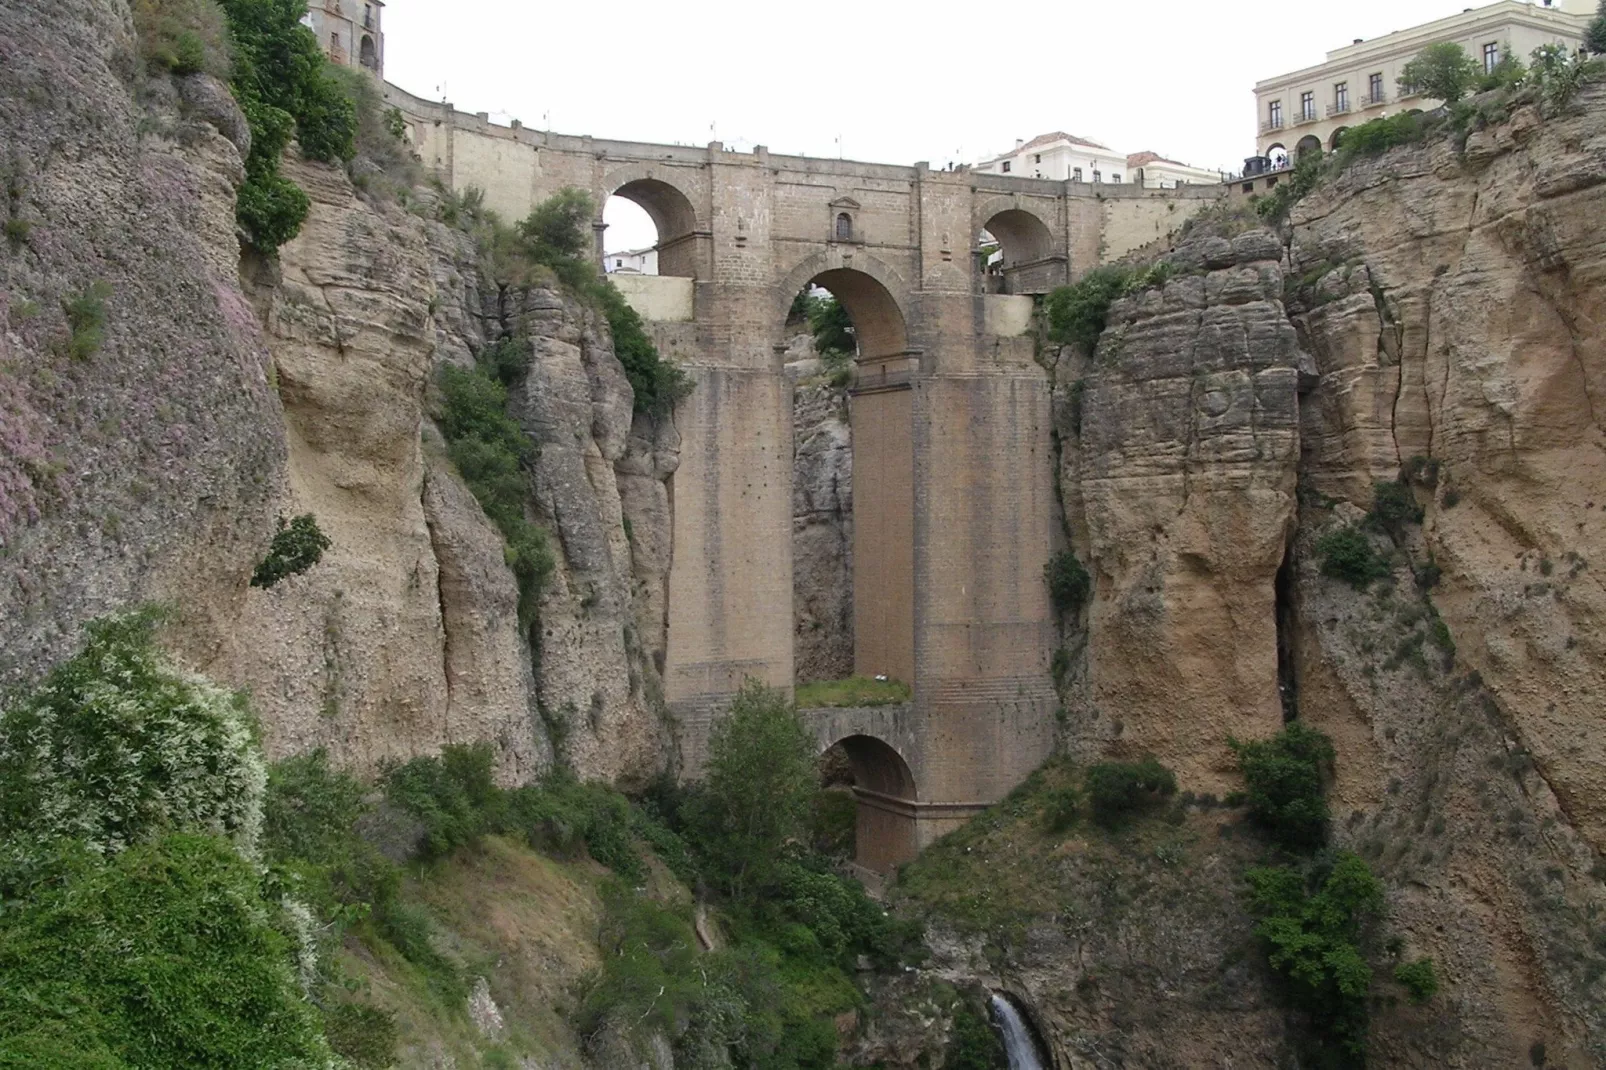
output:
[{"label": "rounded green tree before the foot of the bridge's left pier", "polygon": [[761,882],[790,840],[806,835],[814,800],[814,747],[785,696],[747,680],[708,737],[699,798],[702,842],[726,890]]}]

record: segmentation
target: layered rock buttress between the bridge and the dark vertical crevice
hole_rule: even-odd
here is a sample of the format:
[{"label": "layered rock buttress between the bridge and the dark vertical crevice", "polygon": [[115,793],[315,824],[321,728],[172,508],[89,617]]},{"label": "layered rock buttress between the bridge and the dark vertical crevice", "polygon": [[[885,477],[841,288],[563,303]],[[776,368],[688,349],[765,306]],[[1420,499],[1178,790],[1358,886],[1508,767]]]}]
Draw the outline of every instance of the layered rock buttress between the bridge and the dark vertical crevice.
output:
[{"label": "layered rock buttress between the bridge and the dark vertical crevice", "polygon": [[1055,368],[1062,492],[1094,575],[1078,747],[1156,753],[1225,790],[1222,741],[1282,725],[1275,577],[1294,521],[1299,344],[1283,247],[1200,238]]}]

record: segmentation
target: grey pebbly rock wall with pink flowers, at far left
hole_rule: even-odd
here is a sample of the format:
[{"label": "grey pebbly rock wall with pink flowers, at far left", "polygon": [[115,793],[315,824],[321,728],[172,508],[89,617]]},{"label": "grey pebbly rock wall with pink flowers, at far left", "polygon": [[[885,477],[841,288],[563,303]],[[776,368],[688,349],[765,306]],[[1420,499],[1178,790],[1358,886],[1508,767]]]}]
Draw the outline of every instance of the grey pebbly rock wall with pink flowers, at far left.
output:
[{"label": "grey pebbly rock wall with pink flowers, at far left", "polygon": [[273,533],[286,434],[236,270],[244,120],[206,76],[140,66],[125,5],[0,10],[0,686],[141,601],[214,657]]}]

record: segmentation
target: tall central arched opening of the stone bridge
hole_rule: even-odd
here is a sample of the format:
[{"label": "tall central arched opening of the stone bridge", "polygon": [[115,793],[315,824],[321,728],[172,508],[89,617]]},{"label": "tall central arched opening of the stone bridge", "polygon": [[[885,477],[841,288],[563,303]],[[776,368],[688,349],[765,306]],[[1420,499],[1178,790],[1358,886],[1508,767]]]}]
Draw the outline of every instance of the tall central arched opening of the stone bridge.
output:
[{"label": "tall central arched opening of the stone bridge", "polygon": [[915,361],[903,310],[856,268],[803,278],[787,307],[787,371],[800,397],[819,386],[846,394],[829,400],[835,416],[793,440],[797,683],[914,684]]}]

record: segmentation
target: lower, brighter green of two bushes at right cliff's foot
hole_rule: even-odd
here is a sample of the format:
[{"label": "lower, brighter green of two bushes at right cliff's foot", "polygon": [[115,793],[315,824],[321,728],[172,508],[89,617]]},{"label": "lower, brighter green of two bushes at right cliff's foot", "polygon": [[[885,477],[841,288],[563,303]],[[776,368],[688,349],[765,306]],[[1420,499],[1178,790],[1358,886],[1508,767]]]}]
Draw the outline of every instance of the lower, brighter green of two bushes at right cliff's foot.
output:
[{"label": "lower, brighter green of two bushes at right cliff's foot", "polygon": [[1309,1015],[1328,1064],[1365,1065],[1372,967],[1362,943],[1383,911],[1383,885],[1349,852],[1309,871],[1266,866],[1245,876],[1254,933],[1285,998]]}]

